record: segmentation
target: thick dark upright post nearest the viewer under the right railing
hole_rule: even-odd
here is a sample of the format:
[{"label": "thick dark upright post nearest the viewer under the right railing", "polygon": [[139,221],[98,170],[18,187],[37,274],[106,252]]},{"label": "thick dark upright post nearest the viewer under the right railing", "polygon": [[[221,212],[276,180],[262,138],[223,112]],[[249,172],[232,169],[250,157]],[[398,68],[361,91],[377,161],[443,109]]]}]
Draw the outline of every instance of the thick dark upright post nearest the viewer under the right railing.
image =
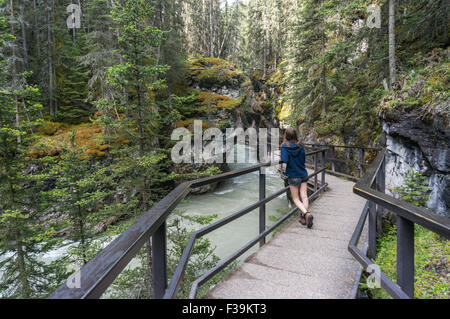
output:
[{"label": "thick dark upright post nearest the viewer under the right railing", "polygon": [[414,298],[414,223],[398,215],[397,284]]}]

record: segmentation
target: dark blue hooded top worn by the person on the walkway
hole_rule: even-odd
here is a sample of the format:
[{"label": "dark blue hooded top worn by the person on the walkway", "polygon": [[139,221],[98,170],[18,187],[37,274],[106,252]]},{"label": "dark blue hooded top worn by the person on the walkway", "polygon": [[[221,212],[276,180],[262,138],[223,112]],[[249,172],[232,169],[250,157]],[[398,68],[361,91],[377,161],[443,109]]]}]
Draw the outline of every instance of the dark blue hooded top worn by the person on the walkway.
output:
[{"label": "dark blue hooded top worn by the person on the walkway", "polygon": [[287,164],[286,176],[290,178],[303,178],[308,176],[305,160],[306,151],[303,145],[289,142],[289,146],[283,144],[281,147],[281,161]]}]

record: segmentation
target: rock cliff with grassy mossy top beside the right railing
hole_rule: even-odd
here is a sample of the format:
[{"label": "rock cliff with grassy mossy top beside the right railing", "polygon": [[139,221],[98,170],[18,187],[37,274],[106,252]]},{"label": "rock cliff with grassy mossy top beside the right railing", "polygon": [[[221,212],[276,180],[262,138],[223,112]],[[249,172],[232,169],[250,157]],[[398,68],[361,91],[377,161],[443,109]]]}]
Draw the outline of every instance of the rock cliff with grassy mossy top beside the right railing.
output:
[{"label": "rock cliff with grassy mossy top beside the right railing", "polygon": [[432,188],[428,208],[450,217],[448,53],[433,52],[419,71],[400,77],[383,100],[380,118],[388,150],[388,190],[400,186],[409,170],[419,171]]}]

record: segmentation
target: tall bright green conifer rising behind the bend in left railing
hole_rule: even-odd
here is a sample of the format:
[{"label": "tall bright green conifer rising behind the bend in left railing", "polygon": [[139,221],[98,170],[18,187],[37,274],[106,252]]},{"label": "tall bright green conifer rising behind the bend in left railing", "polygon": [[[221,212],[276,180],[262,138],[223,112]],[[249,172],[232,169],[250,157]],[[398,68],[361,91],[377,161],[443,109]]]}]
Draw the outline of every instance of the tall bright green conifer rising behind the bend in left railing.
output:
[{"label": "tall bright green conifer rising behind the bend in left railing", "polygon": [[[116,132],[137,146],[137,162],[149,163],[153,159],[146,157],[151,147],[158,145],[157,133],[159,127],[159,109],[155,100],[158,91],[164,89],[164,73],[167,66],[158,64],[157,49],[163,39],[163,32],[149,24],[148,18],[154,12],[147,1],[133,0],[125,4],[116,4],[112,9],[112,19],[117,31],[120,32],[120,55],[122,62],[108,68],[108,82],[119,92],[126,92],[125,101],[116,100],[110,103],[101,100],[99,109],[104,114],[118,108],[125,116],[111,122],[103,118],[107,126],[112,126]],[[107,121],[107,122],[105,122]],[[128,151],[128,154],[132,152]],[[148,209],[148,178],[141,174],[138,165],[136,173],[141,176],[142,205]]]}]

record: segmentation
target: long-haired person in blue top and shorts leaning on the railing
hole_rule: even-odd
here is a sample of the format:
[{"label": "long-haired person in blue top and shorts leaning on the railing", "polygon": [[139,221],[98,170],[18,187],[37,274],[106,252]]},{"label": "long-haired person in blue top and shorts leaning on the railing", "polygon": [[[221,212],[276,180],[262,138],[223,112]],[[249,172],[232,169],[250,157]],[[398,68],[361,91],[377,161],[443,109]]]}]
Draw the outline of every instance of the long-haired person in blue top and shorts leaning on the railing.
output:
[{"label": "long-haired person in blue top and shorts leaning on the railing", "polygon": [[289,178],[292,200],[300,210],[300,223],[311,228],[314,217],[308,211],[308,172],[305,160],[306,151],[298,141],[297,132],[293,128],[288,128],[281,145],[281,161],[287,164],[286,176]]}]

